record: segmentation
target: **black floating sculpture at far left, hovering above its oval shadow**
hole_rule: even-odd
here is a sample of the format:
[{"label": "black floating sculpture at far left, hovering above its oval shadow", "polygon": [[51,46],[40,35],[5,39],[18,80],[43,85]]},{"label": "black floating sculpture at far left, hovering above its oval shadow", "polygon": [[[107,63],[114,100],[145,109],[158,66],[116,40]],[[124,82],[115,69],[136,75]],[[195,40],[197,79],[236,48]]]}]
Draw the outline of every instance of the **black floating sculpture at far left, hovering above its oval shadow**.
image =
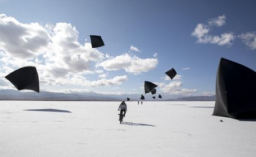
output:
[{"label": "black floating sculpture at far left, hovering above its oval shadow", "polygon": [[30,89],[39,93],[39,79],[36,67],[22,67],[5,76],[18,90]]}]

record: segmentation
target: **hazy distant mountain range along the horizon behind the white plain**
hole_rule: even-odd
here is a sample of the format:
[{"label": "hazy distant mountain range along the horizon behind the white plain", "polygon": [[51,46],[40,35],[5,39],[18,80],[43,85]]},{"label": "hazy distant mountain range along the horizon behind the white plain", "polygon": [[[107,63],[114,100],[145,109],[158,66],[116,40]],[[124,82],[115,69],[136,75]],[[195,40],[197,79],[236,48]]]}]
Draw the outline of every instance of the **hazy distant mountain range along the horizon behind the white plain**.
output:
[{"label": "hazy distant mountain range along the horizon behind the white plain", "polygon": [[[215,96],[178,97],[161,94],[162,99],[153,99],[151,94],[144,94],[145,101],[215,101]],[[19,92],[13,89],[0,90],[0,100],[38,100],[38,101],[121,101],[129,97],[131,101],[140,101],[141,94],[105,95],[98,93],[56,93],[56,92]],[[158,97],[158,95],[156,96]]]}]

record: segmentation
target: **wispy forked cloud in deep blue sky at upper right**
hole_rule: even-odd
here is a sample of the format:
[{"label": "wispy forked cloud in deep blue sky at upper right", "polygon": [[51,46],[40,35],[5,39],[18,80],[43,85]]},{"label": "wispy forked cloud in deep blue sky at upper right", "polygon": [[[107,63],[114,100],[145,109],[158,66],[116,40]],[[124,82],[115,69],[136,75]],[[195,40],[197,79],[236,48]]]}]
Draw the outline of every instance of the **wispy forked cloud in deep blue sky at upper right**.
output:
[{"label": "wispy forked cloud in deep blue sky at upper right", "polygon": [[226,16],[218,16],[217,18],[210,19],[207,24],[199,23],[197,24],[195,30],[192,32],[191,36],[197,38],[197,43],[211,43],[217,44],[219,46],[232,46],[233,40],[236,38],[232,32],[218,35],[209,35],[210,30],[213,26],[221,27],[225,24]]}]

